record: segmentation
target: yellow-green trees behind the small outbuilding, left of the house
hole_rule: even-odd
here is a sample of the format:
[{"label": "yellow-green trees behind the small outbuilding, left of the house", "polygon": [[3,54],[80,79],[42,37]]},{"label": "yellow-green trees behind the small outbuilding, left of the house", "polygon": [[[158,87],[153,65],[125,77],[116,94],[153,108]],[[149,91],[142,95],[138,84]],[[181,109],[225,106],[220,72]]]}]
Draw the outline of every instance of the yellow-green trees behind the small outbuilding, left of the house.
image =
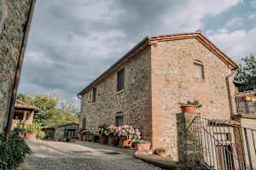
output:
[{"label": "yellow-green trees behind the small outbuilding, left of the house", "polygon": [[31,99],[30,104],[41,110],[35,114],[34,122],[38,122],[42,126],[52,126],[63,122],[79,122],[78,111],[73,102],[63,101],[56,96],[49,95],[37,95],[32,99],[24,94],[19,94],[18,99],[21,101]]}]

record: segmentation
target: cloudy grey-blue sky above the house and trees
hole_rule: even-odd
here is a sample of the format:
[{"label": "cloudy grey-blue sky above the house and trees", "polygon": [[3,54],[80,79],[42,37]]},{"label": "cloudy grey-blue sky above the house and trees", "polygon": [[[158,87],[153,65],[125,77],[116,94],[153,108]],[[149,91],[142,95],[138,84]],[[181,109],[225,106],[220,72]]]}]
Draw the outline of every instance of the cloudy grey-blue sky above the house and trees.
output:
[{"label": "cloudy grey-blue sky above the house and trees", "polygon": [[20,93],[76,99],[143,37],[199,29],[236,62],[256,54],[256,0],[38,0]]}]

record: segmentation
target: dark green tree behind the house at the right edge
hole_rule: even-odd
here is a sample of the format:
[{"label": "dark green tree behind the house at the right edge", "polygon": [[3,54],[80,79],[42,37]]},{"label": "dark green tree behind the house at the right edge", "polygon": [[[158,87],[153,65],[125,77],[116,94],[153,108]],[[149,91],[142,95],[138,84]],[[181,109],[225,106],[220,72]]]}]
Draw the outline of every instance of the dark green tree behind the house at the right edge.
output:
[{"label": "dark green tree behind the house at the right edge", "polygon": [[235,80],[242,82],[245,86],[241,89],[256,90],[256,59],[253,54],[247,55],[241,59],[242,63],[236,71]]}]

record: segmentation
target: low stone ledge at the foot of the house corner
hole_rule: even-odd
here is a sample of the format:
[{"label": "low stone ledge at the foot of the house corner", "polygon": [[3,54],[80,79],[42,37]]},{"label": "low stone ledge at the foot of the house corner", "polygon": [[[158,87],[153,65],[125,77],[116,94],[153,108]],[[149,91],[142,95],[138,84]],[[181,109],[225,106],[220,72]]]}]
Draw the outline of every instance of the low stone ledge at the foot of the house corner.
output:
[{"label": "low stone ledge at the foot of the house corner", "polygon": [[149,164],[152,164],[157,167],[161,167],[164,169],[170,169],[170,170],[177,170],[178,166],[176,162],[170,162],[167,161],[166,158],[161,157],[161,156],[154,156],[154,155],[149,155],[149,156],[137,156],[134,155],[135,158],[140,159],[142,161],[145,161]]}]

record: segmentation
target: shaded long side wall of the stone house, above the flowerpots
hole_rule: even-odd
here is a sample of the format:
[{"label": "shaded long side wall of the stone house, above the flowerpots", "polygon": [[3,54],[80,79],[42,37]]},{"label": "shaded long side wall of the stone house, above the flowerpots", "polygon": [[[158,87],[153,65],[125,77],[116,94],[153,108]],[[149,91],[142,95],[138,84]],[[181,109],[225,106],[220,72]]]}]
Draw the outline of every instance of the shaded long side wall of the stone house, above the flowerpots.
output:
[{"label": "shaded long side wall of the stone house, above the flowerpots", "polygon": [[[117,71],[125,68],[125,90],[117,92]],[[150,48],[144,49],[96,85],[96,102],[92,90],[83,95],[81,121],[86,117],[90,131],[101,123],[115,124],[116,116],[124,124],[140,128],[143,138],[151,135]],[[80,123],[81,127],[81,123]]]}]

